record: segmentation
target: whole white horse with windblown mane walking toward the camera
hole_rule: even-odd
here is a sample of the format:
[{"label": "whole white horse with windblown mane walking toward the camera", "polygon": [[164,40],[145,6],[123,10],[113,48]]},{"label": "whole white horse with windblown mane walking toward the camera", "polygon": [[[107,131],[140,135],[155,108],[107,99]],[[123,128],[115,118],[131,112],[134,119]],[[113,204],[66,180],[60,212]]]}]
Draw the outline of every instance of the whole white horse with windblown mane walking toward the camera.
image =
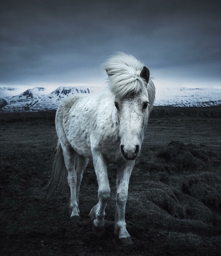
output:
[{"label": "whole white horse with windblown mane walking toward the camera", "polygon": [[[62,187],[66,170],[71,189],[71,218],[79,219],[79,188],[88,158],[98,180],[98,203],[91,209],[93,232],[104,233],[104,216],[110,185],[107,166],[117,166],[114,231],[125,245],[133,244],[126,229],[125,206],[130,174],[140,153],[144,132],[155,100],[149,70],[129,54],[118,52],[103,68],[108,86],[96,95],[71,95],[56,112],[57,153],[47,193]],[[62,176],[62,177],[61,177]]]}]

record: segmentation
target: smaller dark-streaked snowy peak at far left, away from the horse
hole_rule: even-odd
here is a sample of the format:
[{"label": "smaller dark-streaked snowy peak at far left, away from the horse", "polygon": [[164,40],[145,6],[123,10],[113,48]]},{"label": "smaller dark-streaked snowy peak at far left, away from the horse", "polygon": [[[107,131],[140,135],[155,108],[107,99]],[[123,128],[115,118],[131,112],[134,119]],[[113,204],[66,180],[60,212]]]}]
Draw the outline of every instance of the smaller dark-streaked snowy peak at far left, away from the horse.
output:
[{"label": "smaller dark-streaked snowy peak at far left, away from the horse", "polygon": [[7,105],[2,109],[5,111],[29,110],[32,105],[45,95],[44,91],[45,88],[43,87],[28,89],[19,95],[6,99]]}]

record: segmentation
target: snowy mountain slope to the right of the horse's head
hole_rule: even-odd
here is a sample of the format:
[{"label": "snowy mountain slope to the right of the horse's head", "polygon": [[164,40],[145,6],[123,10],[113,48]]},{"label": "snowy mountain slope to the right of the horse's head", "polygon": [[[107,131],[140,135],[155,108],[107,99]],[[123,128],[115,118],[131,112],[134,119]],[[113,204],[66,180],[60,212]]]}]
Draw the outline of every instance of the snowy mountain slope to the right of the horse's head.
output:
[{"label": "snowy mountain slope to the right of the horse's head", "polygon": [[221,105],[221,89],[171,87],[156,90],[155,106],[206,107]]}]

